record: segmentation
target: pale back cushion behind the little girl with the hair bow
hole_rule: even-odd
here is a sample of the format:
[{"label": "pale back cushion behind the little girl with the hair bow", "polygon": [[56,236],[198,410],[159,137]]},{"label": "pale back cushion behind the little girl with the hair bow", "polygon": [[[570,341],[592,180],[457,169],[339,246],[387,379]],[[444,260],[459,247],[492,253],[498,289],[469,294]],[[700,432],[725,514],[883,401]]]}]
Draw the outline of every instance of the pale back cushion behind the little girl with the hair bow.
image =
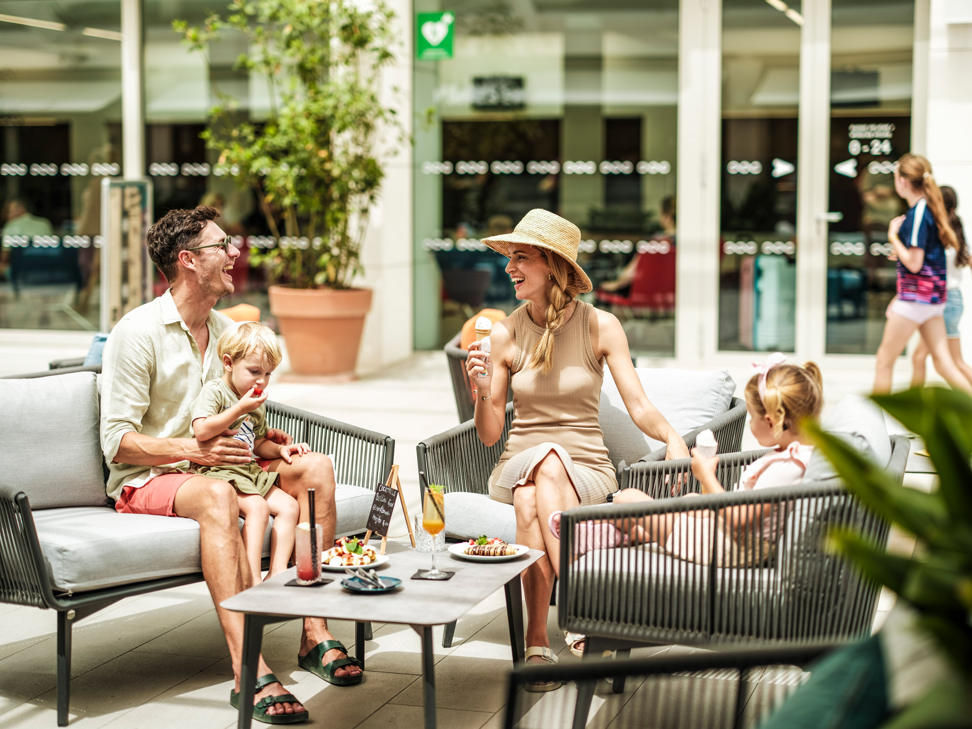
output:
[{"label": "pale back cushion behind the little girl with the hair bow", "polygon": [[[882,468],[891,460],[891,438],[887,434],[885,413],[874,402],[849,395],[823,421],[826,433],[837,435]],[[837,471],[819,449],[814,450],[804,482],[836,478]]]}]

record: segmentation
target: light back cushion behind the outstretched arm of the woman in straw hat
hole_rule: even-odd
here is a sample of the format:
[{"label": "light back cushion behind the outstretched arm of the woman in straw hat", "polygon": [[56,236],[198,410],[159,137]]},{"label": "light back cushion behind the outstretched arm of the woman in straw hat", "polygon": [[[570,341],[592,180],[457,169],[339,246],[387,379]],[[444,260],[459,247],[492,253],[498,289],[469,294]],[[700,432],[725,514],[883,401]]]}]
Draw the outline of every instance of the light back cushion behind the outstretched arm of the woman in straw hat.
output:
[{"label": "light back cushion behind the outstretched arm of the woman in straw hat", "polygon": [[[645,395],[678,434],[694,431],[724,413],[736,391],[736,382],[726,369],[699,372],[639,367],[635,371]],[[615,469],[622,461],[633,464],[665,445],[649,438],[635,425],[607,368],[601,388],[600,420]]]}]

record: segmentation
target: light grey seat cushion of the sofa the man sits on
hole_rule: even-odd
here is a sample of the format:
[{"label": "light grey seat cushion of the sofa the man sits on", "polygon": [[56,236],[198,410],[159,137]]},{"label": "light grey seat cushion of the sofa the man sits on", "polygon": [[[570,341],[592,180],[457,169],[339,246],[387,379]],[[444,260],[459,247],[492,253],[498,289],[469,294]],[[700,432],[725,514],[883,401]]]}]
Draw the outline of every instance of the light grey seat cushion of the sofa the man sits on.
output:
[{"label": "light grey seat cushion of the sofa the man sits on", "polygon": [[[373,497],[374,492],[360,486],[338,484],[335,536],[364,532]],[[202,570],[199,525],[192,519],[120,514],[104,506],[43,509],[33,516],[52,587],[58,592],[85,592]],[[268,527],[263,556],[269,554]]]}]

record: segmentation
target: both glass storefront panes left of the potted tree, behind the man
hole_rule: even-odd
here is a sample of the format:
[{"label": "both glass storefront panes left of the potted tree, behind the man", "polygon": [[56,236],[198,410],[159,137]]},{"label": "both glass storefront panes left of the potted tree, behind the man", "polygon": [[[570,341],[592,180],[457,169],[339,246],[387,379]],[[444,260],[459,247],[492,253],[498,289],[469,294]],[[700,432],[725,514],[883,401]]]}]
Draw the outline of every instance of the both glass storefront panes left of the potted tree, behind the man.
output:
[{"label": "both glass storefront panes left of the potted tree, behind the man", "polygon": [[[101,181],[121,175],[119,0],[10,2],[0,21],[0,328],[97,330]],[[237,236],[236,293],[269,317],[266,275],[247,265],[269,227],[252,191],[217,174],[199,133],[217,94],[238,99],[242,120],[265,118],[267,94],[233,70],[246,43],[224,33],[190,52],[174,19],[200,23],[208,6],[145,0],[145,176],[154,218],[214,205]],[[156,274],[156,295],[165,289]]]}]

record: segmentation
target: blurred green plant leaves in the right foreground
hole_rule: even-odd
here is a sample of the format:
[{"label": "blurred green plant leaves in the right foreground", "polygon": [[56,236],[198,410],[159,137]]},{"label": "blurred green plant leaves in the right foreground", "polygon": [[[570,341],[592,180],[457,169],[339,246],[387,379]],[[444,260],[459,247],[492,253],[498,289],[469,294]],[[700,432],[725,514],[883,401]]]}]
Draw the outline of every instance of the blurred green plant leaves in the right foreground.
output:
[{"label": "blurred green plant leaves in the right foreground", "polygon": [[[849,529],[832,531],[830,543],[866,576],[918,609],[920,626],[952,659],[963,677],[960,690],[967,691],[972,682],[972,398],[944,388],[921,388],[873,399],[924,440],[939,487],[926,494],[900,485],[842,438],[808,424],[817,447],[848,489],[914,535],[918,547],[910,558],[889,554]],[[916,712],[927,710],[925,702],[916,705]]]}]

